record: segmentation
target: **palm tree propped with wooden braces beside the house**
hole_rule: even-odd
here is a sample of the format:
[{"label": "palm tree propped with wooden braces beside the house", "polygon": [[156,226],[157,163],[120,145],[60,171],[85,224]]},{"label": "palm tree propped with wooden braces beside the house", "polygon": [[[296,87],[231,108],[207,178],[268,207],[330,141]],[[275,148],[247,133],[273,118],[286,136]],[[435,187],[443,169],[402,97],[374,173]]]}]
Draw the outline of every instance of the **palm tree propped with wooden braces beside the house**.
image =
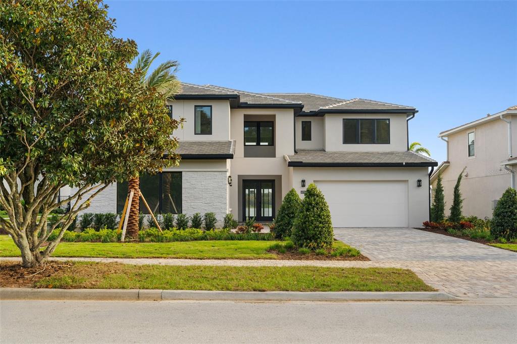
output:
[{"label": "palm tree propped with wooden braces beside the house", "polygon": [[[165,99],[170,100],[180,90],[180,83],[176,78],[179,64],[173,60],[165,61],[152,73],[147,75],[151,64],[153,64],[159,55],[160,53],[158,52],[153,56],[153,53],[148,49],[143,51],[138,57],[138,60],[136,60],[134,70],[136,73],[140,73],[142,85],[155,88],[158,92],[162,93]],[[129,210],[127,236],[137,238],[139,231],[138,217],[140,213],[140,176],[129,178],[128,194],[131,190],[134,190],[134,194]]]}]

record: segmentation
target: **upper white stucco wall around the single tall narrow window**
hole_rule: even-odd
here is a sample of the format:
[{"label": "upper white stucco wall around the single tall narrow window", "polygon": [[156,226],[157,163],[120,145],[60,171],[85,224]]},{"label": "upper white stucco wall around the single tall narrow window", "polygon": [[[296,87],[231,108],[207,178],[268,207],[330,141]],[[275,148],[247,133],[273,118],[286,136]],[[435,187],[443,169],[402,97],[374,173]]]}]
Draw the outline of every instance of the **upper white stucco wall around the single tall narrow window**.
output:
[{"label": "upper white stucco wall around the single tall narrow window", "polygon": [[[230,139],[230,102],[227,100],[178,100],[172,105],[172,118],[185,118],[183,129],[179,128],[173,135],[185,141],[227,141]],[[212,106],[212,134],[194,134],[194,106]]]}]

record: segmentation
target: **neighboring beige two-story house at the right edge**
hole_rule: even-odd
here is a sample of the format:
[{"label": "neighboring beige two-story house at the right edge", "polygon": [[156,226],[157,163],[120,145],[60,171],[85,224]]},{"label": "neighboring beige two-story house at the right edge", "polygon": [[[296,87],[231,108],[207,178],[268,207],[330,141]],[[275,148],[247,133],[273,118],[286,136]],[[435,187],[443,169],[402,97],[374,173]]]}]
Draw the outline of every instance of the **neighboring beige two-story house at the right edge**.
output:
[{"label": "neighboring beige two-story house at the right edge", "polygon": [[[436,186],[442,174],[446,214],[452,204],[454,184],[463,168],[461,182],[463,213],[492,217],[494,206],[509,186],[515,187],[517,153],[517,105],[494,115],[441,132],[447,142],[447,161],[431,176]],[[513,139],[512,139],[513,137]]]}]

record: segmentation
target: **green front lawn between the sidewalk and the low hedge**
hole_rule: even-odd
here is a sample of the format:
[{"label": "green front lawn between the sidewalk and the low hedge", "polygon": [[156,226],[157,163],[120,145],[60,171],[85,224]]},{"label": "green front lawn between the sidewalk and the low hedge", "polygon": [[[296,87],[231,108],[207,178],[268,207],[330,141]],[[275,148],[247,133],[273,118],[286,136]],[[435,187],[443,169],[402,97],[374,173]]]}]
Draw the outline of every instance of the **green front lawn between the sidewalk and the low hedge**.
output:
[{"label": "green front lawn between the sidewalk and the low hedge", "polygon": [[[277,259],[267,249],[278,241],[212,240],[165,243],[62,242],[53,257],[105,258],[191,258],[191,259]],[[349,247],[336,241],[336,247]],[[0,236],[0,257],[19,257],[9,236]]]}]

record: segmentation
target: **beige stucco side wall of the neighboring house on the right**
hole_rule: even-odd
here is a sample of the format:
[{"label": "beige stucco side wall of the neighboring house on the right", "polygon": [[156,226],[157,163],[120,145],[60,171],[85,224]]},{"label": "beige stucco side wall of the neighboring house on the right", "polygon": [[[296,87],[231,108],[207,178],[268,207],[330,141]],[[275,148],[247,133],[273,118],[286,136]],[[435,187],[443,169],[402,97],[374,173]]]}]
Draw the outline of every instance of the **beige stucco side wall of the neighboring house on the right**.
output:
[{"label": "beige stucco side wall of the neighboring house on the right", "polygon": [[[513,127],[517,127],[517,122],[515,125],[512,123],[512,130]],[[470,132],[475,133],[474,157],[468,157],[467,135]],[[512,135],[515,143],[517,132]],[[500,119],[485,122],[475,128],[454,133],[448,137],[448,140],[450,165],[442,173],[445,214],[449,214],[454,185],[461,170],[466,167],[466,176],[464,175],[460,188],[463,214],[481,218],[492,217],[493,201],[499,199],[511,185],[510,173],[501,166],[501,162],[508,159],[507,123]],[[517,149],[515,144],[514,147]],[[436,180],[433,181],[433,187],[435,186]]]}]

